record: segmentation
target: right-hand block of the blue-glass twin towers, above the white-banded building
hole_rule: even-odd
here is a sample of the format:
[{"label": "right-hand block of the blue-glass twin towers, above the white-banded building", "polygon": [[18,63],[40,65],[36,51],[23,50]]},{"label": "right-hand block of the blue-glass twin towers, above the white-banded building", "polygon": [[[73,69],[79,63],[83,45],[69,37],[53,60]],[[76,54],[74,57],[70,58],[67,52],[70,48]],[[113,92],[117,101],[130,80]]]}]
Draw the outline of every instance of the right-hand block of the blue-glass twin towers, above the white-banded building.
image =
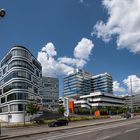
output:
[{"label": "right-hand block of the blue-glass twin towers, above the white-banded building", "polygon": [[113,93],[112,76],[108,73],[92,76],[91,87],[93,92]]}]

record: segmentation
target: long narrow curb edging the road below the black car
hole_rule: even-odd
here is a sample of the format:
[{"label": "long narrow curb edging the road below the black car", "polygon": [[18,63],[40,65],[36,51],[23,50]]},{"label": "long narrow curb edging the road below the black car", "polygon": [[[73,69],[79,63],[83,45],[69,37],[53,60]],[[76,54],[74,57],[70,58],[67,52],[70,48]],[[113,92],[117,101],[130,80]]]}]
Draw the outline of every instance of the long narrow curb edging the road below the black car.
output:
[{"label": "long narrow curb edging the road below the black car", "polygon": [[50,132],[57,132],[57,131],[61,131],[61,130],[69,130],[69,129],[74,129],[74,128],[81,128],[81,127],[87,127],[87,126],[96,126],[96,125],[102,125],[102,124],[109,124],[109,123],[113,123],[113,122],[121,122],[124,121],[126,119],[119,119],[119,120],[113,120],[113,121],[106,121],[106,122],[98,122],[98,123],[94,123],[94,124],[88,124],[88,125],[78,125],[78,126],[71,126],[71,127],[67,127],[67,128],[59,128],[59,129],[55,129],[55,130],[45,130],[45,131],[41,131],[41,132],[32,132],[30,134],[21,134],[21,135],[14,135],[14,136],[1,136],[0,140],[6,140],[6,139],[11,139],[11,138],[20,138],[20,137],[24,137],[24,136],[31,136],[31,135],[37,135],[37,134],[43,134],[43,133],[50,133]]}]

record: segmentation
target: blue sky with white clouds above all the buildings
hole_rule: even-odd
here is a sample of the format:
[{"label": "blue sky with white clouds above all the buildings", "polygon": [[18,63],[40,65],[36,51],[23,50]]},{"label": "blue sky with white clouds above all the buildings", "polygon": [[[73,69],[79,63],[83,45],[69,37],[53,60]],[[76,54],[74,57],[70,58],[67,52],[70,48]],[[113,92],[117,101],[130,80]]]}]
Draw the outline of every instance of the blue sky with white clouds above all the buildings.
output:
[{"label": "blue sky with white clouds above all the buildings", "polygon": [[[57,72],[58,76],[64,76],[81,60],[80,67],[93,74],[110,73],[116,81],[118,94],[127,93],[124,88],[129,88],[130,77],[134,79],[134,87],[137,86],[134,90],[138,93],[140,27],[137,23],[140,16],[132,18],[131,15],[133,11],[140,13],[139,6],[138,0],[132,3],[125,0],[0,0],[0,8],[6,9],[6,17],[0,21],[0,59],[14,45],[27,47],[36,57],[39,53],[45,57],[41,50],[46,47],[43,50],[51,49],[51,64],[69,66],[65,65],[66,71],[61,73],[63,67],[51,74],[46,72],[48,76],[54,73],[56,76]],[[87,57],[76,55],[78,43],[85,43],[84,50],[88,41],[91,44],[87,48],[91,48]],[[72,64],[66,62],[70,60],[73,60]],[[44,66],[47,67],[44,71],[50,69],[52,72],[51,64]]]}]

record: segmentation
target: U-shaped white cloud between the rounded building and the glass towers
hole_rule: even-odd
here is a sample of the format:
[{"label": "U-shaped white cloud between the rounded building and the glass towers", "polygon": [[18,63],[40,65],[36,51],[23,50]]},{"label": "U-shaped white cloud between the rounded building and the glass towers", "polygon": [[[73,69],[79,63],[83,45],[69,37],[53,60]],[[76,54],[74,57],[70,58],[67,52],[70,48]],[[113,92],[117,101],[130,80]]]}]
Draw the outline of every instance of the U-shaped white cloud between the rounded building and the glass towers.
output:
[{"label": "U-shaped white cloud between the rounded building and the glass towers", "polygon": [[42,74],[44,76],[62,76],[67,75],[75,68],[83,68],[92,52],[94,44],[87,38],[82,38],[74,49],[74,57],[57,57],[55,46],[52,42],[47,43],[41,51],[38,52],[38,61],[42,65]]}]

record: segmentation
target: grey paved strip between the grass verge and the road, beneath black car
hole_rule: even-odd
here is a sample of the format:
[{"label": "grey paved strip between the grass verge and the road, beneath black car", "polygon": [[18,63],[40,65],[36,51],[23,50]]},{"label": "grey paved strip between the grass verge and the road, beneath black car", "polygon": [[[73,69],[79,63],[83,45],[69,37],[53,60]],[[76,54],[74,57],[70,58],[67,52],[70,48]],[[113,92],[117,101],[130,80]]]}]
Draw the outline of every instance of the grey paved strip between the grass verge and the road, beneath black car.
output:
[{"label": "grey paved strip between the grass verge and the road, beneath black car", "polygon": [[[140,117],[136,117],[136,118],[140,118]],[[41,134],[46,132],[59,131],[59,130],[66,130],[72,128],[100,125],[100,124],[118,122],[123,120],[126,119],[109,118],[109,119],[102,119],[102,120],[78,121],[78,122],[70,122],[68,126],[61,126],[61,127],[48,127],[47,125],[40,125],[40,126],[28,126],[28,127],[20,127],[20,128],[2,128],[2,136],[0,137],[0,140],[16,138],[21,136],[29,136],[34,134]]]}]

